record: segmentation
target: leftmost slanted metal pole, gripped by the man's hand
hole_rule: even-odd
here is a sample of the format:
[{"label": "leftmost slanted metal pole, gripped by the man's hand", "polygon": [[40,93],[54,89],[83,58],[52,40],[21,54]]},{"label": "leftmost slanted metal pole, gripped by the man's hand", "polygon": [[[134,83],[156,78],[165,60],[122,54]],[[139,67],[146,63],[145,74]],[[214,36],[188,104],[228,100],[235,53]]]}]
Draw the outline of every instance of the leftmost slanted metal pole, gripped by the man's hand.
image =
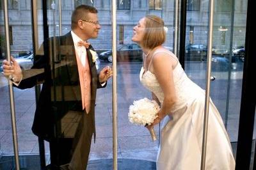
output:
[{"label": "leftmost slanted metal pole, gripped by the man's hand", "polygon": [[[10,52],[10,35],[9,35],[9,17],[8,17],[8,4],[7,0],[4,0],[4,27],[5,27],[5,38],[6,38],[6,49],[7,49],[7,59],[11,61],[11,52]],[[12,137],[13,137],[13,150],[15,157],[15,166],[16,169],[20,169],[19,164],[19,151],[18,151],[18,139],[17,139],[17,128],[16,128],[16,118],[15,118],[15,105],[13,98],[13,86],[12,81],[9,82],[9,92],[10,92],[10,106],[11,106],[11,117],[12,117]]]}]

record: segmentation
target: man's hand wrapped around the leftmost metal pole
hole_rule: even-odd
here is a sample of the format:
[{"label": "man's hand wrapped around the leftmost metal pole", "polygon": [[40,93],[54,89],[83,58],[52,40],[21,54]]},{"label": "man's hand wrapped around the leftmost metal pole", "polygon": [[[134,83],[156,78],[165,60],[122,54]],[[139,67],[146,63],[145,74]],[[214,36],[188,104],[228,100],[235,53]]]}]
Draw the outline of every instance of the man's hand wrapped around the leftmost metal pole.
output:
[{"label": "man's hand wrapped around the leftmost metal pole", "polygon": [[3,74],[7,79],[15,78],[15,82],[19,82],[22,78],[22,71],[19,63],[11,56],[11,61],[4,59],[3,61]]}]

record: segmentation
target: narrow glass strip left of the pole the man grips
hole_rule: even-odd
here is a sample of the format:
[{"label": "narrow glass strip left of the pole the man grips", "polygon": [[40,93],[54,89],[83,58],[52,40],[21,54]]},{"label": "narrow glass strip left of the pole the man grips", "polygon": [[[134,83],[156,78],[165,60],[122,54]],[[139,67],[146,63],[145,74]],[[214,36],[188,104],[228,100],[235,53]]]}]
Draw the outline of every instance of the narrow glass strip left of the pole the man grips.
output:
[{"label": "narrow glass strip left of the pole the man grips", "polygon": [[[0,72],[3,72],[3,60],[6,59],[6,34],[4,31],[4,17],[3,17],[3,1],[0,1]],[[12,120],[10,110],[10,93],[8,88],[8,80],[0,73],[0,169],[12,169],[15,166],[12,157],[4,157],[6,154],[13,155],[13,141],[12,141]]]}]

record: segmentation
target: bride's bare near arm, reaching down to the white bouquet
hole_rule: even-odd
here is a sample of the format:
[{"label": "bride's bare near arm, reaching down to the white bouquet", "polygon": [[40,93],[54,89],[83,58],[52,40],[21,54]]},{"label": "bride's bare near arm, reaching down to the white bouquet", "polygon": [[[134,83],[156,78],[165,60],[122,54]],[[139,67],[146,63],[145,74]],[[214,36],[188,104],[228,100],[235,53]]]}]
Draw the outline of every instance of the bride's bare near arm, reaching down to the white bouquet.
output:
[{"label": "bride's bare near arm, reaching down to the white bouquet", "polygon": [[164,93],[163,104],[158,112],[159,118],[157,118],[152,125],[159,123],[166,114],[170,113],[172,106],[177,101],[177,96],[173,81],[173,65],[175,60],[170,58],[167,54],[158,53],[153,58],[153,68],[156,79],[159,82],[161,89]]}]

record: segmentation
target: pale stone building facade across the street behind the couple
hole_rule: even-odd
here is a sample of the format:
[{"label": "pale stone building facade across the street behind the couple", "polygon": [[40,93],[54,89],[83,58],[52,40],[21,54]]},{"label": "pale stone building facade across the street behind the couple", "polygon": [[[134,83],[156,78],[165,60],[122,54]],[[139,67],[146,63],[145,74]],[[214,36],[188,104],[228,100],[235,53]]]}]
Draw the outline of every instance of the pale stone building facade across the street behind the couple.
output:
[{"label": "pale stone building facade across the street behind the couple", "polygon": [[[234,8],[231,3],[234,2]],[[59,1],[47,0],[49,36],[59,35]],[[132,28],[138,20],[147,14],[154,14],[162,17],[168,27],[166,46],[173,46],[173,13],[174,0],[117,0],[117,26],[116,35],[118,45],[131,43]],[[79,4],[95,6],[99,11],[99,22],[101,25],[99,38],[90,40],[93,47],[98,50],[111,49],[112,27],[111,27],[111,1],[110,0],[64,0],[61,1],[61,26],[62,34],[70,31],[70,17],[72,11]],[[37,1],[38,7],[38,43],[43,40],[42,27],[42,1]],[[3,3],[0,13],[0,43],[1,54],[4,55],[4,14]],[[230,38],[233,38],[232,47],[244,45],[246,20],[246,1],[242,0],[216,0],[214,8],[214,36],[213,46],[222,51],[230,48]],[[8,0],[9,22],[10,22],[10,45],[12,54],[20,51],[31,50],[31,1],[30,0]],[[234,30],[232,27],[232,14],[236,15]],[[240,17],[241,16],[241,17]],[[241,18],[241,20],[239,19]],[[207,44],[209,20],[209,1],[188,0],[187,5],[187,27],[186,44]],[[231,33],[233,34],[231,35]],[[19,36],[17,36],[19,35]]]}]

